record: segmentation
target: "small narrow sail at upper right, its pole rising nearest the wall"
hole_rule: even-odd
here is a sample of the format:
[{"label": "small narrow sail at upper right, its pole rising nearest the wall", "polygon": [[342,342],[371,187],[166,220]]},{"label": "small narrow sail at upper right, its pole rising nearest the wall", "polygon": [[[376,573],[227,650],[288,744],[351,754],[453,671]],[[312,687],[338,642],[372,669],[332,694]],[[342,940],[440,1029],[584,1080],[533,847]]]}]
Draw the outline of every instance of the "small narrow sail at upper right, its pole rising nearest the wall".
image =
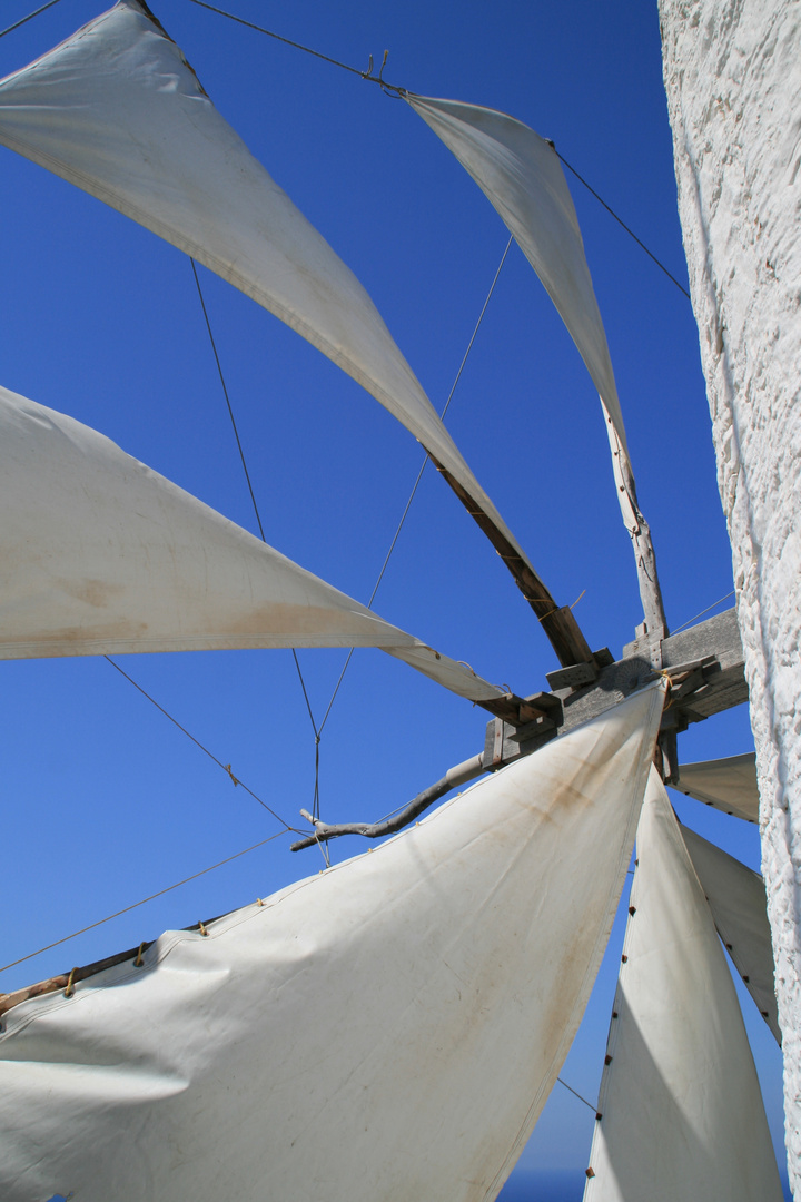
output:
[{"label": "small narrow sail at upper right, its pole rising nearest the wall", "polygon": [[623,415],[579,220],[558,155],[522,121],[480,105],[405,94],[514,234],[584,359],[628,453]]}]

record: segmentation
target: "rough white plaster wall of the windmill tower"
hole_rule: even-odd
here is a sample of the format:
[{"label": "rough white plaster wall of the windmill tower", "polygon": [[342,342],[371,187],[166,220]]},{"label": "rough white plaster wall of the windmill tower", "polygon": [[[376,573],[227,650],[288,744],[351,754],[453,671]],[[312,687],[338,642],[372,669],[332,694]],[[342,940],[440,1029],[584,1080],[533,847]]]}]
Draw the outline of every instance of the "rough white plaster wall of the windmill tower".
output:
[{"label": "rough white plaster wall of the windmill tower", "polygon": [[801,0],[659,0],[659,12],[746,649],[801,1200]]}]

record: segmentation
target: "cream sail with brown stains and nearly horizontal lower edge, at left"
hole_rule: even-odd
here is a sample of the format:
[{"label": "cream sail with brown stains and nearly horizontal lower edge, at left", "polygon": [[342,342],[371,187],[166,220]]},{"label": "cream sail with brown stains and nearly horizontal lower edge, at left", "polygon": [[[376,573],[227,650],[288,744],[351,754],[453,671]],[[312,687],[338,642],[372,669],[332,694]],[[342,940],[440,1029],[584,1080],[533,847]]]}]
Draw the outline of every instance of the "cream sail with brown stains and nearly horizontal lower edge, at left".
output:
[{"label": "cream sail with brown stains and nearly horizontal lower edge, at left", "polygon": [[502,696],[88,426],[0,388],[0,659],[379,647]]}]

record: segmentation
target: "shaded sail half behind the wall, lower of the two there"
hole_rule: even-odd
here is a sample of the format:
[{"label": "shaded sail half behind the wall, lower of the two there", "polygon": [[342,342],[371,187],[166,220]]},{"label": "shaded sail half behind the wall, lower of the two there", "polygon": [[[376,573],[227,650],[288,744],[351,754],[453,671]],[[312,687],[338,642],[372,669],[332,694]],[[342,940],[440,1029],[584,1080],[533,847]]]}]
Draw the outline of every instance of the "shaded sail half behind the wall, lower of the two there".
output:
[{"label": "shaded sail half behind the wall, lower of the two there", "polygon": [[682,838],[717,932],[757,1008],[781,1045],[767,898],[759,873],[682,826]]}]

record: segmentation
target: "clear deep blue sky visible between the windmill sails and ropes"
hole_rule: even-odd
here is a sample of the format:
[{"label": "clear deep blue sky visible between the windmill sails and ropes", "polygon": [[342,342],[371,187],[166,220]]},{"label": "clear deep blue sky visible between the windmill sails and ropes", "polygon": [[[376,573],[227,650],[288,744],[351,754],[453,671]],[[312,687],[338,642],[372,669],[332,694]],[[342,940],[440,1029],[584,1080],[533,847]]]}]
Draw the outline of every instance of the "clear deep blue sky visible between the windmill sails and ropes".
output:
[{"label": "clear deep blue sky visible between the windmill sails and ropes", "polygon": [[[5,0],[1,24],[35,7]],[[489,105],[560,151],[686,281],[656,4],[229,0],[238,14],[391,83]],[[61,0],[0,41],[0,73],[95,16]],[[360,278],[436,407],[444,403],[507,234],[402,102],[204,11],[155,5],[222,114]],[[455,16],[458,13],[458,16]],[[688,300],[569,179],[662,576],[677,626],[731,589],[698,334]],[[250,499],[195,282],[179,251],[2,151],[0,381],[102,430],[247,529]],[[201,269],[267,538],[366,601],[422,457],[366,393]],[[600,409],[516,248],[448,417],[467,462],[592,647],[640,620]],[[729,600],[727,605],[730,605]],[[516,692],[545,688],[546,639],[495,553],[426,471],[376,609]],[[342,654],[301,653],[319,720]],[[288,821],[310,807],[313,737],[288,653],[127,656],[122,666]],[[277,829],[103,660],[5,664],[2,963]],[[371,819],[480,750],[485,715],[378,651],[354,656],[321,744],[325,819]],[[751,750],[745,708],[685,736],[685,761]],[[753,867],[754,828],[680,802]],[[10,970],[11,989],[231,910],[319,867],[281,838]],[[333,847],[335,858],[360,850]],[[13,922],[11,921],[13,916]],[[614,940],[622,938],[616,928]],[[612,951],[563,1076],[594,1097]],[[781,1065],[747,1000],[769,1118]],[[584,1167],[592,1115],[557,1087],[522,1167]]]}]

